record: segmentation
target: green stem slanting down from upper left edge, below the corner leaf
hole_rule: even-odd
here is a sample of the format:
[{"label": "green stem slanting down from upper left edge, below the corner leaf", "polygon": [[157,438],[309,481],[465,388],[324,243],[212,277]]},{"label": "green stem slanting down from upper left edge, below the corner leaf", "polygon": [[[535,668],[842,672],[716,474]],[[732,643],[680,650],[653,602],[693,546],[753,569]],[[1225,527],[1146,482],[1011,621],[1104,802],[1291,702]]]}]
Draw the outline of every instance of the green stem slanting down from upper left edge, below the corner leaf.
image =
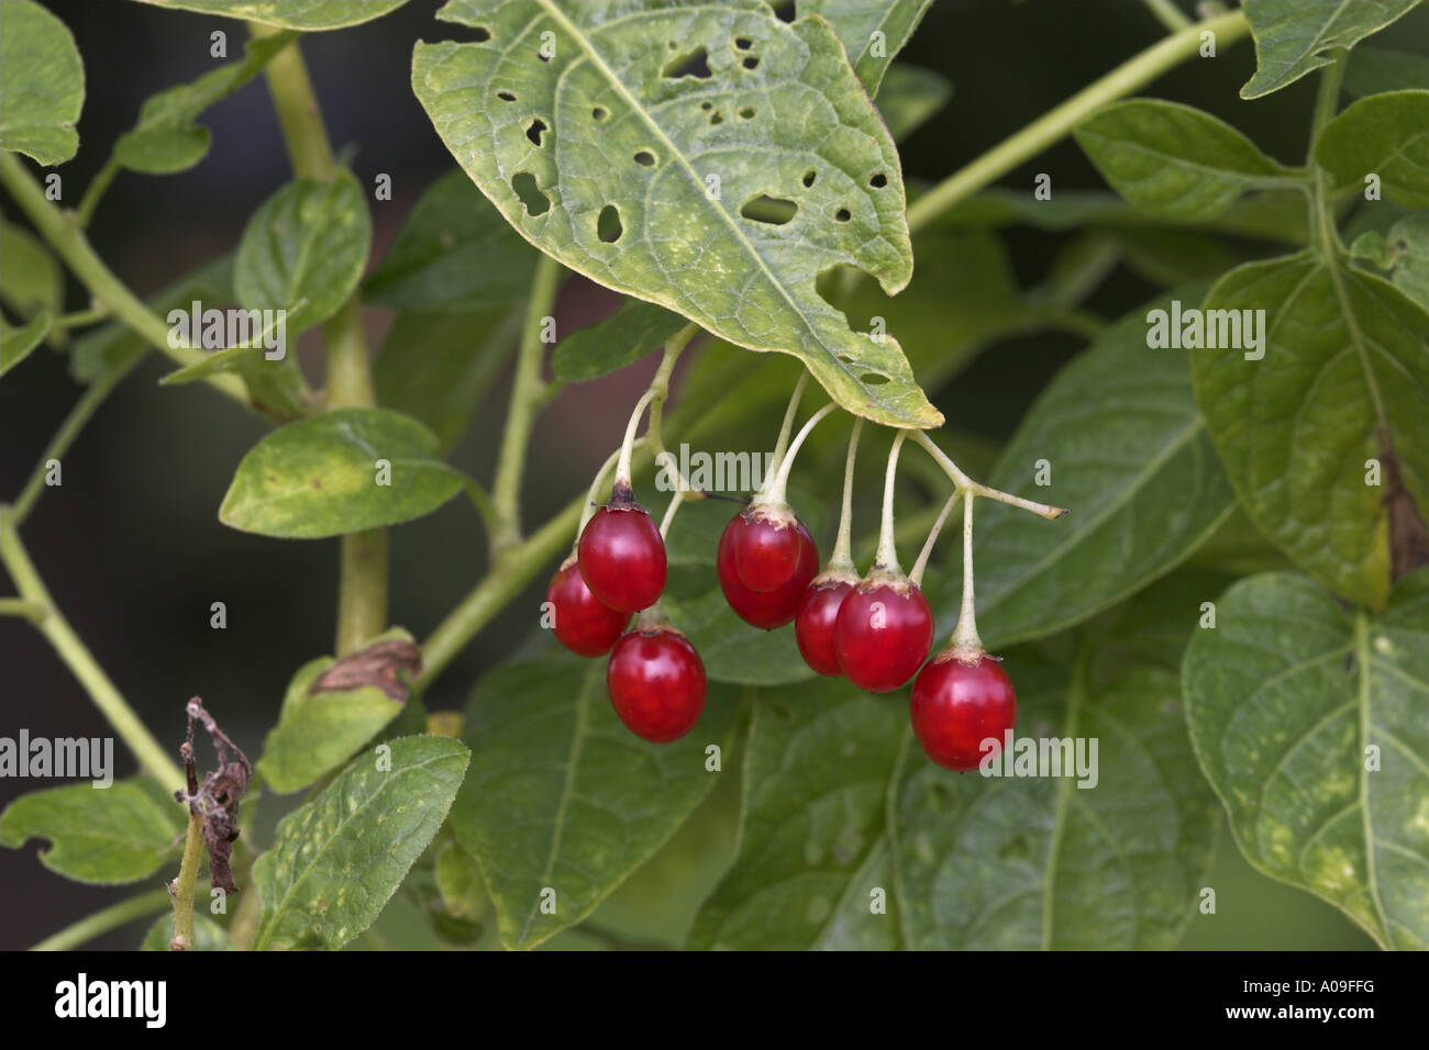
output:
[{"label": "green stem slanting down from upper left edge, below the corner leaf", "polygon": [[[46,200],[44,190],[13,153],[0,151],[0,184],[10,193],[56,254],[64,260],[76,279],[89,290],[90,296],[104,306],[116,320],[133,329],[146,343],[180,366],[207,360],[207,354],[201,350],[169,343],[169,326],[157,314],[150,313],[149,307],[104,266],[84,233],[53,201]],[[209,376],[204,381],[252,409],[247,387],[233,373]]]}]

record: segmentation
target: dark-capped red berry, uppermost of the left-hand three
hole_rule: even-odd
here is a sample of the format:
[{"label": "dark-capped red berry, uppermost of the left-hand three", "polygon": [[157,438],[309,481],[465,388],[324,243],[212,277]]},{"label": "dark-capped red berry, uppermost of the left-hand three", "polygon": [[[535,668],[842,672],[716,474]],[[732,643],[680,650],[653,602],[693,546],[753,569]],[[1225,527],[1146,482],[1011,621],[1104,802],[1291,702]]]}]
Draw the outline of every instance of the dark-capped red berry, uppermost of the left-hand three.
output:
[{"label": "dark-capped red berry, uppermost of the left-hand three", "polygon": [[580,576],[607,609],[649,609],[664,590],[664,540],[650,516],[619,499],[594,513],[580,533]]}]

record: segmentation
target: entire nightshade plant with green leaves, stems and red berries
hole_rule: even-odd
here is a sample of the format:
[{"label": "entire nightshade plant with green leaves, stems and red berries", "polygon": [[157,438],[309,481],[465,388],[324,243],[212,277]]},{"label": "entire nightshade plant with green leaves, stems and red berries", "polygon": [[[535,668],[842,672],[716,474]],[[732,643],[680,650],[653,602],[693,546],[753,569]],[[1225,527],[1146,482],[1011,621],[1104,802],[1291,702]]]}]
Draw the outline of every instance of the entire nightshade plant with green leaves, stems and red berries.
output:
[{"label": "entire nightshade plant with green leaves, stems and red berries", "polygon": [[[456,166],[372,267],[366,179],[329,146],[302,43],[403,0],[143,1],[247,20],[249,43],[150,99],[76,201],[46,174],[79,149],[81,59],[40,4],[0,4],[0,373],[23,383],[50,341],[83,387],[0,506],[0,613],[33,623],[139,763],[104,791],[20,797],[0,843],[43,839],[40,860],[79,881],[173,879],[46,947],[147,916],[144,947],[363,946],[400,893],[433,946],[530,949],[697,846],[696,813],[729,777],[737,850],[694,949],[1170,947],[1223,819],[1256,869],[1380,946],[1429,944],[1429,79],[1422,57],[1363,43],[1415,0],[1245,0],[1200,21],[1127,4],[1165,36],[919,186],[896,143],[949,89],[893,56],[927,0],[450,0],[450,24],[414,43],[412,90]],[[1302,163],[1133,97],[1252,36],[1242,97],[1319,81]],[[204,109],[259,76],[292,181],[231,254],[141,301],[89,219],[121,169],[199,163]],[[993,187],[1066,136],[1115,193]],[[1076,234],[1042,287],[1010,277],[1013,226]],[[1107,321],[1083,301],[1117,263],[1163,291]],[[89,309],[63,313],[61,266]],[[627,299],[560,333],[546,379],[572,273]],[[194,300],[260,313],[242,339],[200,339],[206,321],[170,339]],[[363,304],[396,311],[374,356]],[[322,386],[270,359],[274,317],[289,339],[322,329]],[[975,480],[953,453],[976,444],[925,389],[1040,330],[1087,346]],[[273,697],[252,764],[211,704],[174,697],[173,724],[141,724],[21,543],[51,461],[156,351],[166,387],[207,386],[274,424],[219,520],[340,537],[334,653]],[[523,521],[542,407],[649,354],[654,379],[589,493]],[[483,484],[444,453],[509,357]],[[673,436],[717,449],[776,429],[776,473],[747,509],[669,454]],[[872,470],[856,470],[860,431]],[[876,530],[853,513],[870,487]],[[419,641],[389,623],[387,530],[462,494],[490,567]],[[963,543],[935,561],[953,510]],[[899,547],[919,544],[905,574]],[[554,637],[486,674],[463,717],[429,714],[453,656],[547,573]],[[186,719],[187,776],[159,743]],[[1027,753],[1002,741],[1002,776],[942,769],[1013,724],[1022,743],[1097,740],[1095,787],[1006,776]],[[204,736],[220,761],[200,784]],[[286,813],[272,836],[259,806]],[[200,890],[194,914],[206,844],[214,884],[239,894],[204,913]]]}]

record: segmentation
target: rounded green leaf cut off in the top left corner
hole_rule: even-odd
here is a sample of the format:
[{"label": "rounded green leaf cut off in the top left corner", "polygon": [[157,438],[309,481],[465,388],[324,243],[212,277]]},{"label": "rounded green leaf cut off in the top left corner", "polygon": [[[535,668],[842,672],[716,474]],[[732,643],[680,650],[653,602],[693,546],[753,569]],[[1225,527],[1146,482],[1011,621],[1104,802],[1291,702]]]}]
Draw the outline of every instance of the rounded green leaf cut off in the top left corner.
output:
[{"label": "rounded green leaf cut off in the top left corner", "polygon": [[31,0],[0,4],[0,149],[46,167],[80,147],[84,64],[63,21]]}]

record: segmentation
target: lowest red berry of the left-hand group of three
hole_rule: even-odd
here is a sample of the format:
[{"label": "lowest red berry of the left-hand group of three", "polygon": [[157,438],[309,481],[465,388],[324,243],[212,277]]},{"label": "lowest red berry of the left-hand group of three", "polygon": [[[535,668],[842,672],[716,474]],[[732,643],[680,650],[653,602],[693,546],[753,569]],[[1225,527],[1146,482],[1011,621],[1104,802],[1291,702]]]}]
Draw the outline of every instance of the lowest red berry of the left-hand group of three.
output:
[{"label": "lowest red berry of the left-hand group of three", "polygon": [[689,639],[673,627],[633,630],[610,653],[606,689],[626,729],[666,744],[700,720],[704,664]]}]

